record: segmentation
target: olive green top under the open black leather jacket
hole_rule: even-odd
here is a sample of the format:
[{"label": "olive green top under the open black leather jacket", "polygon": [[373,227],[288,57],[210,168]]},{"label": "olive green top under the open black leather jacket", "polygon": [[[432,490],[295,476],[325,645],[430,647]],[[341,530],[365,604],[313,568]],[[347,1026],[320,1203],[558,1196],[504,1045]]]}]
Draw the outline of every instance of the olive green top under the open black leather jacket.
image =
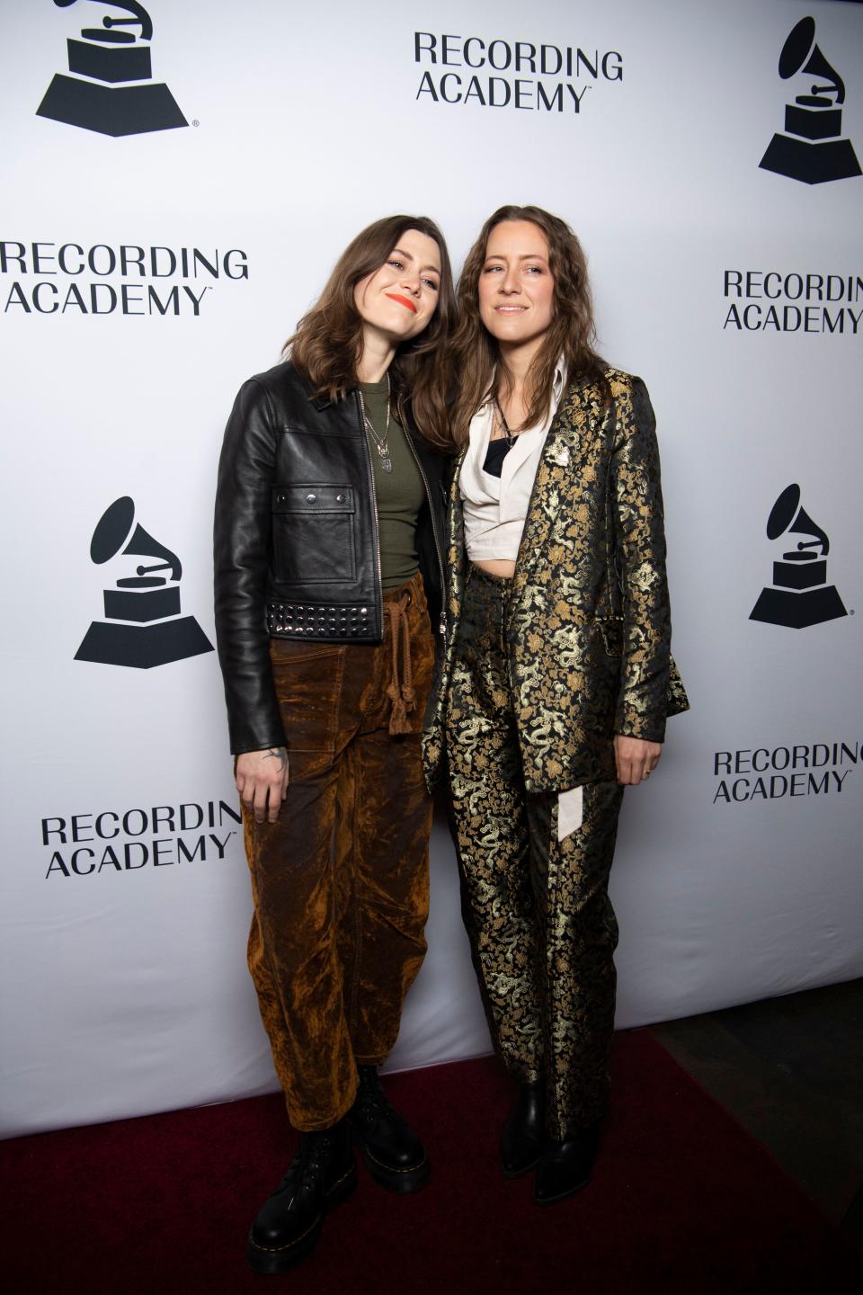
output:
[{"label": "olive green top under the open black leather jacket", "polygon": [[426,488],[405,433],[396,420],[395,400],[387,433],[387,379],[361,382],[366,417],[378,439],[389,445],[392,471],[383,469],[378,445],[366,427],[366,439],[374,470],[380,531],[380,583],[396,589],[410,580],[419,567],[417,558],[417,519],[426,502]]}]

